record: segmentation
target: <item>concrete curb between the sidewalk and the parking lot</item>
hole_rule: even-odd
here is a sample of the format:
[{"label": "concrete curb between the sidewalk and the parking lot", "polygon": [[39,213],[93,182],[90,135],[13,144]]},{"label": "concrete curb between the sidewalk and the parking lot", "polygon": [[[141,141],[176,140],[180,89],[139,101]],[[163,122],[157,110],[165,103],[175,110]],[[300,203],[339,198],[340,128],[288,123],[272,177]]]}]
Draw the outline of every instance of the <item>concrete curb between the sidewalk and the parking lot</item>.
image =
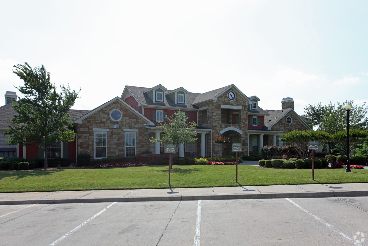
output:
[{"label": "concrete curb between the sidewalk and the parking lot", "polygon": [[321,197],[351,197],[368,196],[368,190],[347,191],[309,191],[283,193],[253,193],[253,194],[213,194],[186,196],[152,196],[152,197],[106,197],[106,198],[63,198],[37,200],[1,200],[0,205],[17,204],[60,204],[60,203],[111,203],[139,201],[193,201],[193,200],[231,200],[231,199],[276,199],[276,198],[321,198]]}]

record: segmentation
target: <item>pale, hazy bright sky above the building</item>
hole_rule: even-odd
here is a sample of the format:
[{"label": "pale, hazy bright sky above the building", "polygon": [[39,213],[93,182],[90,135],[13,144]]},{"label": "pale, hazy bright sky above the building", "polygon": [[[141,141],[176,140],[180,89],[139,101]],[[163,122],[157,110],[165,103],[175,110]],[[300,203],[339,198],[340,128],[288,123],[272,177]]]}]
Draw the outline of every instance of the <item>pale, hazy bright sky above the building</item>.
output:
[{"label": "pale, hazy bright sky above the building", "polygon": [[[235,84],[263,109],[368,101],[368,1],[1,0],[0,94],[23,61],[93,109],[125,85]],[[0,105],[5,104],[4,97]]]}]

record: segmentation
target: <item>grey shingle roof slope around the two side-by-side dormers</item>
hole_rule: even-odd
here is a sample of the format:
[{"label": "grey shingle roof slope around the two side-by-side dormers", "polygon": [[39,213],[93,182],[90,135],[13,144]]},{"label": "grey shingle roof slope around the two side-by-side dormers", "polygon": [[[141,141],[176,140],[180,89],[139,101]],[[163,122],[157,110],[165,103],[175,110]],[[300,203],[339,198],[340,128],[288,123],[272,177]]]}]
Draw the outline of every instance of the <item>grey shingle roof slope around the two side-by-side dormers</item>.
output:
[{"label": "grey shingle roof slope around the two side-by-side dormers", "polygon": [[[146,88],[146,87],[137,87],[137,86],[131,86],[131,85],[127,85],[124,88],[124,92],[122,95],[124,95],[125,93],[125,89],[128,89],[132,96],[134,96],[134,98],[137,100],[137,102],[139,103],[139,106],[149,106],[149,105],[155,105],[155,106],[168,106],[168,107],[176,107],[176,108],[187,108],[187,109],[197,109],[198,107],[195,107],[192,105],[192,102],[194,101],[194,99],[199,95],[198,93],[193,93],[193,92],[188,92],[187,93],[187,101],[186,104],[175,104],[175,102],[171,101],[170,98],[165,97],[165,102],[153,102],[145,93],[144,91],[146,91],[147,89],[150,88]],[[167,91],[167,92],[171,92],[171,91]]]}]

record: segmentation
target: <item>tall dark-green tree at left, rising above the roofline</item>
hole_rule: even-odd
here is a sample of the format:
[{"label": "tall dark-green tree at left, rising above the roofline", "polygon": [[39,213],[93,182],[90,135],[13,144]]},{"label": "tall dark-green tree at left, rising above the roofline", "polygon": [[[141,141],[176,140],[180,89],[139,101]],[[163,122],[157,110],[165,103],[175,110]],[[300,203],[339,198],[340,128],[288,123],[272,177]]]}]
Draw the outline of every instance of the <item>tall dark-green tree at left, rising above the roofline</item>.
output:
[{"label": "tall dark-green tree at left, rising above the roofline", "polygon": [[24,98],[18,97],[13,102],[13,109],[17,115],[10,122],[17,126],[8,125],[4,134],[10,135],[9,144],[36,145],[45,154],[45,168],[47,167],[47,151],[54,142],[70,142],[74,140],[73,130],[68,111],[78,98],[78,92],[71,91],[60,85],[61,91],[56,92],[56,86],[50,81],[50,73],[43,65],[32,68],[28,63],[14,65],[15,73],[24,86],[17,88]]}]

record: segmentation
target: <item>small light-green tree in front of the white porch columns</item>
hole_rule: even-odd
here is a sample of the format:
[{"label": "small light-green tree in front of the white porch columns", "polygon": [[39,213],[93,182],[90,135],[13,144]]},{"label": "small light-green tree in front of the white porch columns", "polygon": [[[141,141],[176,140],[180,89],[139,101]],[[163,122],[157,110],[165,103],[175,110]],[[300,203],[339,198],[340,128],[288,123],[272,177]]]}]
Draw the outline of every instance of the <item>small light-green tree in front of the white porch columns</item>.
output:
[{"label": "small light-green tree in front of the white porch columns", "polygon": [[[151,143],[159,142],[161,144],[173,144],[175,145],[175,150],[179,144],[185,144],[194,142],[197,140],[197,130],[194,130],[197,126],[194,122],[187,122],[188,118],[185,117],[185,113],[178,110],[174,115],[167,117],[167,121],[156,127],[162,130],[161,137],[151,138],[149,141]],[[174,155],[171,155],[170,166],[173,168]]]}]

